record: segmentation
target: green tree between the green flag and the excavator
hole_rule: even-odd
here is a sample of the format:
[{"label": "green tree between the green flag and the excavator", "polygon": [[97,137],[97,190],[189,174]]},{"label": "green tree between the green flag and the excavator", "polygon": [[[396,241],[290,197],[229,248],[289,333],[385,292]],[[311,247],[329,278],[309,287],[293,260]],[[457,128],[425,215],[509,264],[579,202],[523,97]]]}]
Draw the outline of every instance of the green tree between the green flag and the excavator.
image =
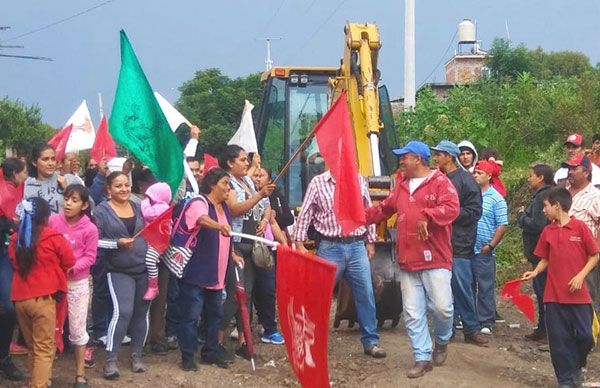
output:
[{"label": "green tree between the green flag and the excavator", "polygon": [[[239,126],[244,100],[258,107],[262,85],[260,73],[231,79],[221,70],[211,68],[196,72],[179,91],[177,109],[202,128],[200,144],[203,149],[218,154]],[[256,108],[253,113],[258,113]]]}]

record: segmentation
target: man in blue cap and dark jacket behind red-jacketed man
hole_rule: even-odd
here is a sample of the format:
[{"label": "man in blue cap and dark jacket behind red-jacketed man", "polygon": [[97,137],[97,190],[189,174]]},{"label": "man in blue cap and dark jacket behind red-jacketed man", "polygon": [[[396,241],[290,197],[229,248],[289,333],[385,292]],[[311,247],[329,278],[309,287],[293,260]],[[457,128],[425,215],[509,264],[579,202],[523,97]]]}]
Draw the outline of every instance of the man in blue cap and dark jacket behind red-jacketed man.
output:
[{"label": "man in blue cap and dark jacket behind red-jacketed man", "polygon": [[487,346],[488,340],[481,331],[473,295],[473,269],[477,220],[481,217],[482,199],[479,185],[465,168],[457,167],[460,150],[451,141],[442,140],[431,147],[437,168],[446,174],[458,193],[460,213],[452,223],[452,294],[454,315],[463,321],[465,342]]}]

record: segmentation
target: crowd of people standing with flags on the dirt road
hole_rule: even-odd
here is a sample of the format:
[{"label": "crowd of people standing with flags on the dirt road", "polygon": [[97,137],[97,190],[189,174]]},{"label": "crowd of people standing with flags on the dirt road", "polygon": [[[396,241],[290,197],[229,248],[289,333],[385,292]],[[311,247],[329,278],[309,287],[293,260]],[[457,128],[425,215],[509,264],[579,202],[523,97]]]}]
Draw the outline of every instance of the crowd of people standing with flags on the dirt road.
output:
[{"label": "crowd of people standing with flags on the dirt road", "polygon": [[[309,182],[294,217],[259,155],[228,145],[218,165],[205,165],[195,157],[199,130],[190,133],[185,155],[193,182],[184,178],[175,193],[125,158],[90,159],[80,171],[78,155],[56,160],[53,147],[43,144],[28,160],[4,160],[0,371],[6,378],[25,379],[10,356],[24,349],[30,386],[49,386],[55,351],[65,345],[75,355],[74,386],[80,388],[88,386],[85,369],[94,366],[98,346],[106,352],[103,376],[109,380],[120,376],[124,343],[130,343],[135,373],[147,369],[146,343],[157,354],[179,349],[185,371],[198,370],[198,358],[227,368],[235,359],[224,346],[227,336],[238,342],[235,355],[249,359],[235,298],[238,281],[250,296],[245,308],[255,312],[261,341],[281,345],[274,266],[257,260],[253,240],[237,233],[304,251],[311,228],[317,254],[337,267],[336,283],[344,278],[350,285],[364,353],[386,357],[369,260],[380,238],[376,224],[394,214],[403,316],[415,361],[407,376],[443,365],[459,330],[466,343],[488,346],[502,321],[495,252],[508,228],[496,150],[478,153],[469,141],[448,140],[435,146],[410,141],[393,150],[400,164],[395,186],[373,204],[359,175],[367,224],[344,235],[329,171]],[[538,306],[537,327],[526,337],[548,341],[565,387],[581,384],[600,307],[600,136],[593,144],[587,156],[582,136],[573,134],[559,170],[533,164],[527,179],[533,196],[517,214],[532,268],[523,280],[533,280]],[[171,207],[170,245],[159,252],[140,231]]]}]

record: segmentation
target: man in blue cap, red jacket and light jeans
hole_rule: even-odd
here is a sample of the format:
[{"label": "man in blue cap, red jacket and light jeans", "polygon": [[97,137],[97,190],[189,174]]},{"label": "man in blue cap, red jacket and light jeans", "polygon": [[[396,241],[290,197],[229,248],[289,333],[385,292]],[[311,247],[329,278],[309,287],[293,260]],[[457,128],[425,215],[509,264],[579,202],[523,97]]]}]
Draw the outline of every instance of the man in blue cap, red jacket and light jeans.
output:
[{"label": "man in blue cap, red jacket and light jeans", "polygon": [[[429,167],[429,147],[420,141],[395,149],[404,179],[377,206],[367,209],[368,223],[398,214],[396,243],[404,323],[415,364],[406,373],[417,378],[446,361],[452,337],[452,222],[459,214],[450,180]],[[435,348],[427,310],[432,311]]]}]

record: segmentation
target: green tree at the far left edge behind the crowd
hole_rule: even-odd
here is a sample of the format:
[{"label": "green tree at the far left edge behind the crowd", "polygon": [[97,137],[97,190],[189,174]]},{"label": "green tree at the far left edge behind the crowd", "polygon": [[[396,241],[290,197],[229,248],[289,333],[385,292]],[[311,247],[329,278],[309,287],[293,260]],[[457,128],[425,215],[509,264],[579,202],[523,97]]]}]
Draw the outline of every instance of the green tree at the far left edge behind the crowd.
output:
[{"label": "green tree at the far left edge behind the crowd", "polygon": [[0,100],[0,139],[4,147],[29,153],[40,142],[48,141],[55,131],[42,122],[37,105],[25,105],[4,97]]}]

